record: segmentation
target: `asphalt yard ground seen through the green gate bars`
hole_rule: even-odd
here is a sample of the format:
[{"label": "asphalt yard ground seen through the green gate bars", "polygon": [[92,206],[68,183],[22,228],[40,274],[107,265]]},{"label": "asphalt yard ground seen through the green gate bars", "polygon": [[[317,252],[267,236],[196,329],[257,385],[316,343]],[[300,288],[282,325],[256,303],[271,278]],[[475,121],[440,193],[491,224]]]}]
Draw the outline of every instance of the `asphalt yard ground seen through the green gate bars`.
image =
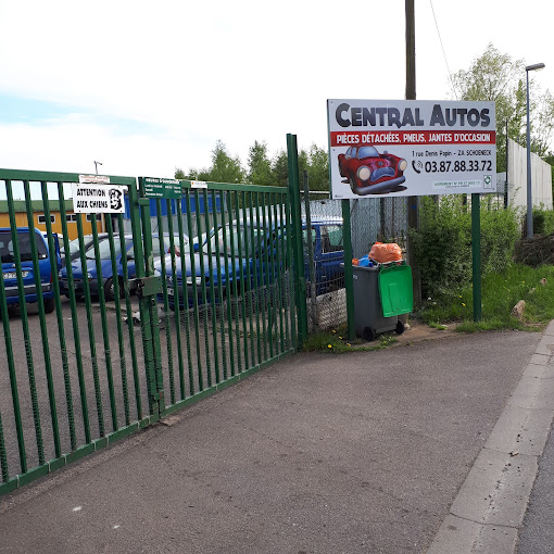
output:
[{"label": "asphalt yard ground seen through the green gate bars", "polygon": [[[234,303],[231,322],[229,325],[227,304],[215,311],[215,320],[209,307],[200,306],[198,318],[191,310],[180,317],[180,348],[177,340],[175,313],[167,314],[160,307],[160,352],[165,403],[171,405],[176,401],[190,396],[201,388],[205,389],[232,372],[245,369],[273,355],[290,343],[290,331],[286,328],[281,332],[279,317],[274,313],[273,340],[265,340],[264,331],[268,327],[267,306],[260,302],[263,291],[259,290],[257,301],[245,305],[249,315],[245,322],[247,332],[241,318],[241,304]],[[253,306],[253,316],[250,317],[250,307]],[[140,324],[131,326],[123,320],[126,317],[125,302],[122,300],[122,312],[116,313],[114,302],[105,304],[106,331],[104,333],[100,305],[92,302],[90,328],[86,304],[81,301],[76,304],[76,318],[78,332],[73,326],[73,313],[67,299],[62,301],[63,335],[65,337],[64,350],[60,344],[60,333],[56,314],[46,315],[46,332],[48,336],[48,356],[45,355],[41,340],[40,318],[36,304],[28,309],[28,341],[25,341],[21,314],[10,316],[10,335],[14,354],[15,375],[17,381],[17,402],[20,405],[22,426],[25,440],[25,455],[27,467],[39,465],[36,415],[40,420],[40,440],[45,451],[45,459],[55,456],[52,413],[58,419],[61,441],[61,453],[71,452],[71,423],[67,398],[73,405],[73,423],[75,426],[76,445],[86,443],[85,420],[89,421],[91,438],[100,438],[104,433],[116,430],[148,414],[149,401],[147,390],[147,376],[144,353]],[[256,311],[256,307],[259,309]],[[138,299],[131,297],[131,311],[138,312]],[[280,316],[290,316],[291,309]],[[118,339],[117,319],[123,330],[123,341]],[[198,333],[196,324],[198,319]],[[265,322],[265,323],[264,323]],[[289,323],[290,326],[290,323]],[[229,329],[231,332],[229,332]],[[4,348],[4,328],[0,325],[0,344]],[[131,349],[131,337],[135,348]],[[261,338],[259,348],[259,337]],[[281,340],[282,338],[282,340]],[[232,343],[232,349],[231,349]],[[119,348],[123,347],[123,356]],[[136,356],[131,355],[135,351]],[[232,350],[232,364],[231,364]],[[240,353],[239,353],[240,350]],[[180,355],[179,355],[180,351]],[[63,355],[67,358],[67,375],[63,372]],[[248,357],[247,357],[248,356]],[[51,410],[49,395],[46,360],[50,360],[52,368],[52,390],[55,410]],[[83,363],[83,387],[79,383],[78,358]],[[33,361],[34,380],[36,389],[36,405],[33,403],[33,392],[29,377],[29,363]],[[248,365],[247,365],[248,363]],[[95,369],[96,367],[96,369]],[[109,372],[109,367],[111,370]],[[113,387],[110,386],[109,375],[112,376]],[[71,387],[68,393],[67,383]],[[112,392],[111,392],[112,389]],[[85,399],[85,400],[84,400]],[[127,399],[127,402],[125,402]],[[11,391],[9,366],[7,356],[0,356],[0,414],[7,459],[10,477],[21,473],[20,452],[17,448],[16,427],[14,417],[14,403]],[[85,410],[88,411],[85,416]],[[126,406],[127,411],[126,412]],[[103,427],[102,427],[103,426]]]}]

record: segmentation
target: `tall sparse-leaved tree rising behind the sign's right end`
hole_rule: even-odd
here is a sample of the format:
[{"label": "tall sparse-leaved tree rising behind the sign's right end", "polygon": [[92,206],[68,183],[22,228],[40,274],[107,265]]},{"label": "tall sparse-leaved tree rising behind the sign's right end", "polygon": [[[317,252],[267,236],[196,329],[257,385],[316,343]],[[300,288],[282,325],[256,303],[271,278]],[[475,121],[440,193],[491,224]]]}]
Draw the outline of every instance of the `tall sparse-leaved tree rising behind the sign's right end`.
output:
[{"label": "tall sparse-leaved tree rising behind the sign's right end", "polygon": [[[506,169],[507,136],[527,146],[527,91],[525,63],[501,53],[491,43],[469,70],[461,70],[452,80],[459,100],[494,101],[496,105],[496,168]],[[531,150],[544,156],[554,130],[554,98],[549,90],[541,92],[532,77]]]}]

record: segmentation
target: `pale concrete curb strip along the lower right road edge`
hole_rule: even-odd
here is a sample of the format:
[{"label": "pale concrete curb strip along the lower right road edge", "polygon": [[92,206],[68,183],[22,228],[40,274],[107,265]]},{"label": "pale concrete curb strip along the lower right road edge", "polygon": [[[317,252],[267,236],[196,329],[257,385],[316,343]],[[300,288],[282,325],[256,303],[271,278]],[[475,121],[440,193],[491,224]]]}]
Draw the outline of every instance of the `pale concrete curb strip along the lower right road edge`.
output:
[{"label": "pale concrete curb strip along the lower right road edge", "polygon": [[428,554],[514,553],[554,418],[554,320],[539,342]]}]

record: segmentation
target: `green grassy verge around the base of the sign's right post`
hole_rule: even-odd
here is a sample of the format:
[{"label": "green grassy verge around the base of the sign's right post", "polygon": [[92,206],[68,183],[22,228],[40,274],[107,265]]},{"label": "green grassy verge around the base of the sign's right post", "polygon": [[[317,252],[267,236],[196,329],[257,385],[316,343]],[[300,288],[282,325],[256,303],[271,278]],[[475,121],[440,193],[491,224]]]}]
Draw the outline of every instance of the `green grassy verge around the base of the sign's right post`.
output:
[{"label": "green grassy verge around the base of the sign's right post", "polygon": [[[546,279],[543,285],[542,279]],[[511,264],[502,273],[483,276],[481,284],[482,320],[474,322],[471,285],[453,289],[450,294],[427,299],[417,314],[436,326],[457,322],[456,330],[477,332],[498,329],[539,330],[554,318],[554,266],[529,267]],[[512,309],[525,300],[521,322]]]}]

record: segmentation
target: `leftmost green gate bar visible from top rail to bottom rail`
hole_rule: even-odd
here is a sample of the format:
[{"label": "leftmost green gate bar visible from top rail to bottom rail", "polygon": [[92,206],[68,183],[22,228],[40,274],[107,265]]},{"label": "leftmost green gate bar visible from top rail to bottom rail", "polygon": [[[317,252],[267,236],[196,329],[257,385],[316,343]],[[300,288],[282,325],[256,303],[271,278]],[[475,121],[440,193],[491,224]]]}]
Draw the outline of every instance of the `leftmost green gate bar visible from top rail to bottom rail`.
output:
[{"label": "leftmost green gate bar visible from top rail to bottom rail", "polygon": [[[35,438],[37,443],[37,454],[39,465],[45,464],[45,445],[42,441],[42,428],[40,426],[40,411],[38,406],[38,398],[37,398],[37,385],[35,381],[35,366],[33,361],[33,344],[30,342],[29,336],[29,322],[27,317],[27,304],[25,301],[25,289],[23,284],[23,274],[22,274],[22,265],[21,265],[21,252],[20,252],[20,243],[18,243],[18,232],[17,232],[17,224],[15,222],[15,213],[13,209],[13,191],[12,191],[12,182],[10,179],[5,180],[5,193],[8,198],[8,211],[10,216],[10,227],[12,234],[12,244],[13,244],[13,257],[15,263],[15,272],[17,275],[17,295],[20,300],[20,311],[21,311],[21,323],[23,328],[23,341],[25,344],[25,357],[27,361],[27,373],[29,377],[29,391],[30,391],[30,402],[33,406],[33,420],[35,424]],[[34,228],[34,227],[33,227]]]}]

